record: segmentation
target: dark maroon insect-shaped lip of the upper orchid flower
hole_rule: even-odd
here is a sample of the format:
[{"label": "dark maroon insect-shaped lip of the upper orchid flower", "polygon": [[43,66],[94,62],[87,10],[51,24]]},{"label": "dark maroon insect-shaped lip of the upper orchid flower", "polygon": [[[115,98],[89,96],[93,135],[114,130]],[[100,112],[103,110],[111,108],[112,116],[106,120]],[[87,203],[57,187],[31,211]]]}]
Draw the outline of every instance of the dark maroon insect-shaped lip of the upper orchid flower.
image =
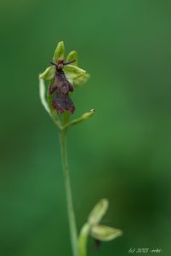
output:
[{"label": "dark maroon insect-shaped lip of the upper orchid flower", "polygon": [[69,111],[70,113],[74,113],[75,106],[71,101],[69,96],[69,92],[73,91],[73,86],[66,79],[66,75],[62,68],[64,65],[67,65],[73,61],[65,63],[63,59],[59,59],[55,64],[51,62],[56,67],[55,75],[54,75],[54,83],[50,85],[48,94],[51,95],[55,92],[52,106],[59,113],[64,113],[65,111]]}]

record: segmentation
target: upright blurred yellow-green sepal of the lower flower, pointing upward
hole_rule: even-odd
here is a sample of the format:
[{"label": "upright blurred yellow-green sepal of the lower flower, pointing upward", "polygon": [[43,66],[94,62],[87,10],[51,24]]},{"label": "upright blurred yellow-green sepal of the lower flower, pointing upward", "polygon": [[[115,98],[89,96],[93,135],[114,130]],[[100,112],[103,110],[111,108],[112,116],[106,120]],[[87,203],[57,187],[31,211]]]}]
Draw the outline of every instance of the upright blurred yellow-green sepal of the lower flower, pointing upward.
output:
[{"label": "upright blurred yellow-green sepal of the lower flower, pointing upward", "polygon": [[101,218],[105,215],[108,208],[108,201],[106,199],[101,199],[94,207],[92,212],[88,216],[88,223],[91,225],[99,224]]}]

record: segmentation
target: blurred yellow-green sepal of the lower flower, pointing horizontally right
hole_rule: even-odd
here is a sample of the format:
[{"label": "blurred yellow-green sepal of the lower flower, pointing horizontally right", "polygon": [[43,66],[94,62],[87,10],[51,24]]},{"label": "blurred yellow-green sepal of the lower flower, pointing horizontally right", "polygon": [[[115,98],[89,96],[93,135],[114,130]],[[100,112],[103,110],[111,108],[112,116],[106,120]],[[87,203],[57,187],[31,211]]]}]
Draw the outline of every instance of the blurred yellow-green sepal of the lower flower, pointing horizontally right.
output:
[{"label": "blurred yellow-green sepal of the lower flower, pointing horizontally right", "polygon": [[122,230],[117,230],[105,225],[94,225],[91,229],[91,236],[99,241],[111,241],[122,235]]}]

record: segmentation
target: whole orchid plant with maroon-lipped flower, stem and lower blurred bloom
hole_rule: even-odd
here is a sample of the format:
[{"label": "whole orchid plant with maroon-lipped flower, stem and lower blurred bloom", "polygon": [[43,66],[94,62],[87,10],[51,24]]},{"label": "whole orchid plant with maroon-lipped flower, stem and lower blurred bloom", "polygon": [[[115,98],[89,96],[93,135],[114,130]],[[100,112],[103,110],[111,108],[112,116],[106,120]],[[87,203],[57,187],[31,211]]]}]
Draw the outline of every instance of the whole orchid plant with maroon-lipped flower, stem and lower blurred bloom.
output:
[{"label": "whole orchid plant with maroon-lipped flower, stem and lower blurred bloom", "polygon": [[[108,201],[101,199],[89,213],[88,219],[78,233],[76,217],[71,195],[71,182],[66,152],[66,133],[72,125],[77,125],[94,115],[94,109],[83,113],[80,118],[71,119],[75,112],[75,105],[71,100],[71,93],[84,84],[89,74],[78,67],[78,55],[72,50],[66,57],[63,42],[57,44],[53,60],[42,74],[39,75],[39,91],[43,107],[57,126],[60,136],[61,160],[66,187],[66,205],[71,236],[71,249],[73,256],[87,256],[88,236],[99,241],[111,241],[122,235],[122,231],[100,224],[108,208]],[[48,81],[48,86],[45,81]]]}]

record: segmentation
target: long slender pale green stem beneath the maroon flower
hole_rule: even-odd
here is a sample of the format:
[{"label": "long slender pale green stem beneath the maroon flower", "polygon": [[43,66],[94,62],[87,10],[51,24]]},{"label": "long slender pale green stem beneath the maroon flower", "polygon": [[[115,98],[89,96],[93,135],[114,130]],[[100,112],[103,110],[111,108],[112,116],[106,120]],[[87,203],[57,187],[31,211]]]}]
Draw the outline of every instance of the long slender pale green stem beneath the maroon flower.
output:
[{"label": "long slender pale green stem beneath the maroon flower", "polygon": [[66,129],[60,130],[60,149],[61,149],[62,166],[63,166],[63,172],[64,172],[64,181],[65,181],[65,187],[66,187],[66,204],[67,204],[68,221],[69,221],[69,227],[70,227],[72,253],[73,253],[73,256],[78,256],[77,225],[76,225],[76,218],[75,218],[74,207],[72,202],[71,183],[70,183],[67,152],[66,152]]}]

